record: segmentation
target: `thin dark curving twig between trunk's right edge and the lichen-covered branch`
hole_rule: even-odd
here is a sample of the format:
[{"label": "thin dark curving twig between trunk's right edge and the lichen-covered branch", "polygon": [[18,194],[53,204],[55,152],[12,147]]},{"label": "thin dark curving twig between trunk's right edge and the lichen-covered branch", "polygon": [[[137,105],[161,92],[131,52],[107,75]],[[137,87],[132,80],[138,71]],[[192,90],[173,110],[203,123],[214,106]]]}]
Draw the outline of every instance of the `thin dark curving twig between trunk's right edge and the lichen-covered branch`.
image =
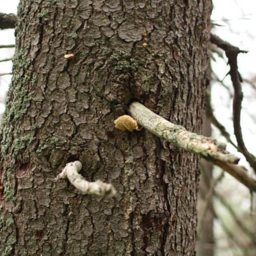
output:
[{"label": "thin dark curving twig between trunk's right edge and the lichen-covered branch", "polygon": [[226,140],[234,146],[237,150],[239,150],[238,146],[234,144],[234,142],[230,138],[230,134],[227,132],[225,126],[223,126],[215,117],[214,111],[212,110],[211,104],[210,104],[210,98],[209,95],[206,94],[206,115],[210,119],[211,123],[214,124],[221,132],[221,135],[226,138]]}]

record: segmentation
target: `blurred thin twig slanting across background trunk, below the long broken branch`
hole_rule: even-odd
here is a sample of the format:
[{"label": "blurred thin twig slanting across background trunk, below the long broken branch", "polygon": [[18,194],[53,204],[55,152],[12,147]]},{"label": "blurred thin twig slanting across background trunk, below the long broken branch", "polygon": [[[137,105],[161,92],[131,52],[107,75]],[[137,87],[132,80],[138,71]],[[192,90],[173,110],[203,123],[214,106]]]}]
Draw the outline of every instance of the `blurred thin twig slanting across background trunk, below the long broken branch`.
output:
[{"label": "blurred thin twig slanting across background trunk, below the long broken branch", "polygon": [[211,180],[210,188],[208,190],[208,193],[207,193],[206,197],[204,198],[204,205],[203,205],[203,209],[201,210],[201,215],[200,215],[200,217],[198,217],[198,219],[199,219],[199,223],[198,223],[198,237],[200,237],[202,228],[204,226],[207,210],[208,210],[208,208],[210,206],[209,198],[214,194],[215,186],[222,180],[223,177],[224,177],[224,172],[221,172],[221,174],[216,179],[212,179]]}]

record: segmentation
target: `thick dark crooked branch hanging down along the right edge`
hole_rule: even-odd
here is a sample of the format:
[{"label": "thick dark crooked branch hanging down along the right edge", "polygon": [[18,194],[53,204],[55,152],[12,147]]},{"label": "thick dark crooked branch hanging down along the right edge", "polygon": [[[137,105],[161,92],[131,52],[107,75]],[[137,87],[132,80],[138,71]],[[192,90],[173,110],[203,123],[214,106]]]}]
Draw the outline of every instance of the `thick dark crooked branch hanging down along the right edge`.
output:
[{"label": "thick dark crooked branch hanging down along the right edge", "polygon": [[238,147],[245,156],[246,160],[249,162],[251,167],[256,172],[256,159],[255,157],[248,152],[241,130],[241,109],[242,109],[242,100],[243,92],[241,87],[241,75],[238,72],[238,62],[237,56],[239,53],[247,53],[247,51],[242,51],[238,47],[230,45],[228,42],[222,40],[220,37],[214,34],[210,34],[210,41],[213,44],[216,44],[219,48],[225,51],[228,58],[228,64],[230,66],[229,75],[234,88],[234,98],[233,98],[233,127],[234,135],[236,136]]}]

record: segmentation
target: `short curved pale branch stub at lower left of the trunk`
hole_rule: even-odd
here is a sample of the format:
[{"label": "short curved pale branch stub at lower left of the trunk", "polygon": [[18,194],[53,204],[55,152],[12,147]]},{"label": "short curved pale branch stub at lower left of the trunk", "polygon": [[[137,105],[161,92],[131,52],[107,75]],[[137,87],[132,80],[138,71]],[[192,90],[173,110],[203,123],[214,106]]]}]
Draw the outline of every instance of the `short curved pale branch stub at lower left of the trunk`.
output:
[{"label": "short curved pale branch stub at lower left of the trunk", "polygon": [[90,182],[85,180],[78,172],[82,169],[82,164],[79,161],[68,163],[62,172],[55,178],[55,181],[61,178],[68,178],[71,184],[82,191],[83,194],[96,195],[101,197],[113,197],[116,194],[115,188],[100,180]]}]

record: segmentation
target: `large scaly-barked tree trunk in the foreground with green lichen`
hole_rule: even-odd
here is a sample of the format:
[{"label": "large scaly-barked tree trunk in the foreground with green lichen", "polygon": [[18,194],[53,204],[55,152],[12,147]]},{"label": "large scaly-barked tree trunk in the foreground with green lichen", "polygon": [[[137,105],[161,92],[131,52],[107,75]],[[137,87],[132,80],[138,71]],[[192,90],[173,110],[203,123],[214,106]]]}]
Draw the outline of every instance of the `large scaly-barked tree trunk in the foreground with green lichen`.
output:
[{"label": "large scaly-barked tree trunk in the foreground with green lichen", "polygon": [[[3,255],[195,254],[198,158],[113,121],[136,99],[200,132],[210,12],[210,0],[20,1],[1,135]],[[116,197],[54,182],[74,160]]]}]

